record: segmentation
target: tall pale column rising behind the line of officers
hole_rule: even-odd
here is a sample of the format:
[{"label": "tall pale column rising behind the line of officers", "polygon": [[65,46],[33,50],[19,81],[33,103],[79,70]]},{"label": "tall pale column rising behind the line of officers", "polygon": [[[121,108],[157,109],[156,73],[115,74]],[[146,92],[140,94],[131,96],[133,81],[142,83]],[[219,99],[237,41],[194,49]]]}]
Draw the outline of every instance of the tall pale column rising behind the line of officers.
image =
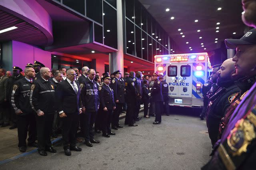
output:
[{"label": "tall pale column rising behind the line of officers", "polygon": [[117,9],[117,49],[115,53],[109,55],[110,73],[120,70],[124,72],[124,43],[123,43],[123,12],[122,0],[116,0]]}]

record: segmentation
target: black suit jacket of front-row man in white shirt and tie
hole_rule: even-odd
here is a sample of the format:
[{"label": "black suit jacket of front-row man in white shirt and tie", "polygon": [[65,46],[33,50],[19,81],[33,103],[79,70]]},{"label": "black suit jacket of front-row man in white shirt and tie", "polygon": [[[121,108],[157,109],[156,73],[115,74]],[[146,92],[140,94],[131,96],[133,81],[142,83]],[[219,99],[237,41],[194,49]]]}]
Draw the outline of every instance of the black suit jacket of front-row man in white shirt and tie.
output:
[{"label": "black suit jacket of front-row man in white shirt and tie", "polygon": [[76,113],[79,114],[79,109],[82,107],[81,102],[81,88],[77,81],[75,81],[78,86],[78,92],[75,93],[72,85],[68,80],[64,80],[58,83],[55,97],[56,97],[56,108],[57,111],[64,111],[65,113]]}]

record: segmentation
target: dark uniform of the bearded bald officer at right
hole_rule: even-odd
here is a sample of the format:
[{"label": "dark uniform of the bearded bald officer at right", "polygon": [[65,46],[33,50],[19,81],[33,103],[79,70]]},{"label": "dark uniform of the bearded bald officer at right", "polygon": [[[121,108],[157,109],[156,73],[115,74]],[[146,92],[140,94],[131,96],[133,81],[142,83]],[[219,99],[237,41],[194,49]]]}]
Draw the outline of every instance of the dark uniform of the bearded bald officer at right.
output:
[{"label": "dark uniform of the bearded bald officer at right", "polygon": [[206,124],[212,146],[214,146],[218,139],[221,118],[224,116],[236,93],[239,92],[239,88],[232,80],[218,84],[221,88],[209,99],[210,102],[206,111]]}]

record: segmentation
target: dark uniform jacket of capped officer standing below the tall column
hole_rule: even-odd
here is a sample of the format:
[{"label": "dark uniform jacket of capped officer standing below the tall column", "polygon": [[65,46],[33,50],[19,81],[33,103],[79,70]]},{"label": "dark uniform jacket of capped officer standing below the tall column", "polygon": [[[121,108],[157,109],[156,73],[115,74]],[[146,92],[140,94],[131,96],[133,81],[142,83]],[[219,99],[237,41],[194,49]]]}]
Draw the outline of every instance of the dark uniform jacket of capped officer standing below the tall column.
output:
[{"label": "dark uniform jacket of capped officer standing below the tall column", "polygon": [[124,92],[125,85],[122,82],[122,79],[118,80],[118,78],[114,78],[111,80],[110,87],[114,91],[114,101],[118,100],[118,103],[124,103]]}]

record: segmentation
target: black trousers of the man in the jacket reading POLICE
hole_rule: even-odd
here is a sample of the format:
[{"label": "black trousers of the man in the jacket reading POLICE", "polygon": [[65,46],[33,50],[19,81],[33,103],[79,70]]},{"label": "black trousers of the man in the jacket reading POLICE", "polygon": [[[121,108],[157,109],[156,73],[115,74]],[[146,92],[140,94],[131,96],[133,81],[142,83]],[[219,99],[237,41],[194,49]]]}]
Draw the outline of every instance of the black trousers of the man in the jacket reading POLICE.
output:
[{"label": "black trousers of the man in the jacket reading POLICE", "polygon": [[84,119],[84,139],[90,141],[94,139],[93,124],[97,116],[96,111],[86,111]]}]

